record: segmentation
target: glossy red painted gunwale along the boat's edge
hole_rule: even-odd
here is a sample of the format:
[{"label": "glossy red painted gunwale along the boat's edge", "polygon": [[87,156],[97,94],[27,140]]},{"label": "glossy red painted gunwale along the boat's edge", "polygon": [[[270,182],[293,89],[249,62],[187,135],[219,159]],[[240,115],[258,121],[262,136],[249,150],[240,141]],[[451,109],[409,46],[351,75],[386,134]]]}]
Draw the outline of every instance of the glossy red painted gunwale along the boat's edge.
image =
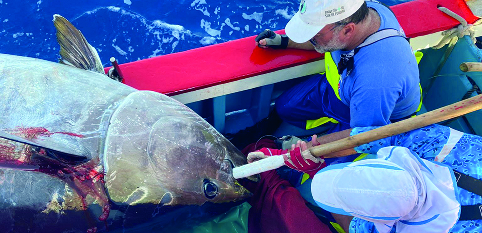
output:
[{"label": "glossy red painted gunwale along the boat's edge", "polygon": [[[406,35],[415,38],[460,24],[438,10],[440,6],[458,13],[469,23],[479,19],[464,0],[415,0],[391,9]],[[315,51],[257,48],[254,37],[121,64],[123,83],[138,90],[174,96],[323,59]],[[105,68],[106,72],[109,68]]]}]

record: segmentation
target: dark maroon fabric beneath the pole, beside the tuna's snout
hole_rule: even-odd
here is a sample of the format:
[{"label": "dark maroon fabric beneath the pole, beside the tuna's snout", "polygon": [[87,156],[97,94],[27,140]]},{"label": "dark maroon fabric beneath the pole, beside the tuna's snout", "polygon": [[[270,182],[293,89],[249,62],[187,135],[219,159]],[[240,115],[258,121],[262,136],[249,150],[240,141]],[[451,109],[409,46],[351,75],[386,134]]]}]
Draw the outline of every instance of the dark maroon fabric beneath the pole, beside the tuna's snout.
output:
[{"label": "dark maroon fabric beneath the pole, beside the tuna's snout", "polygon": [[[269,139],[260,140],[256,149],[276,148]],[[254,151],[254,143],[241,152]],[[305,204],[305,200],[288,181],[280,178],[276,170],[261,173],[261,181],[241,182],[254,196],[248,201],[249,233],[331,233]]]}]

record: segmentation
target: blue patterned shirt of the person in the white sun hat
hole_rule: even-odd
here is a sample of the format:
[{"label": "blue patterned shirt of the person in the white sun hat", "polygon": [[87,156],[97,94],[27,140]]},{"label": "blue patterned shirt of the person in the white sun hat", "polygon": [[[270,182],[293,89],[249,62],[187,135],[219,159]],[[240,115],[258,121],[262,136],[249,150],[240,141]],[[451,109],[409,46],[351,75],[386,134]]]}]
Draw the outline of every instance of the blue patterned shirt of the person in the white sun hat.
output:
[{"label": "blue patterned shirt of the person in the white sun hat", "polygon": [[[351,135],[375,129],[378,127],[357,127],[352,129]],[[358,153],[376,154],[387,146],[403,146],[419,155],[421,158],[434,161],[450,136],[450,128],[441,125],[429,125],[421,129],[402,133],[375,142],[363,144],[355,148]],[[442,163],[455,171],[462,172],[479,180],[482,178],[482,137],[464,133],[455,144],[452,151],[443,159]],[[462,206],[482,204],[482,197],[459,188]],[[453,233],[482,233],[482,220],[458,221],[452,229]],[[377,233],[372,222],[353,218],[350,223],[350,233]],[[396,233],[392,229],[391,233]]]}]

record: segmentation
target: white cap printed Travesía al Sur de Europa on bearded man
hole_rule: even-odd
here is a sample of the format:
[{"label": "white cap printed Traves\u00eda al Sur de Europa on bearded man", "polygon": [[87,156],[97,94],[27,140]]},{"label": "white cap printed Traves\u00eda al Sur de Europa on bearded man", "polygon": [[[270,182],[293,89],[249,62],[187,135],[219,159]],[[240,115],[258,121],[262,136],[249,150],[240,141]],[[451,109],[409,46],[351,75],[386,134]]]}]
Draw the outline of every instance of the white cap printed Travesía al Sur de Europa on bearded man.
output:
[{"label": "white cap printed Traves\u00eda al Sur de Europa on bearded man", "polygon": [[284,31],[289,39],[304,43],[327,24],[348,18],[358,11],[365,0],[301,0],[298,12]]}]

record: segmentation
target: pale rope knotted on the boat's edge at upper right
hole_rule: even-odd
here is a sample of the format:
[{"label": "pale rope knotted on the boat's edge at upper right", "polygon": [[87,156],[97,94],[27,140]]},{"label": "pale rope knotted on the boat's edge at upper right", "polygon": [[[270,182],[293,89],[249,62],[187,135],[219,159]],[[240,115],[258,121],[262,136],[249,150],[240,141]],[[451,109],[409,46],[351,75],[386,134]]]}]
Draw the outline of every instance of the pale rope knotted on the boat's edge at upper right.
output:
[{"label": "pale rope knotted on the boat's edge at upper right", "polygon": [[474,26],[479,25],[482,23],[482,19],[479,19],[475,21],[473,24],[468,24],[467,21],[462,18],[462,16],[458,15],[457,13],[445,8],[445,7],[439,7],[438,8],[440,11],[443,13],[449,15],[450,17],[456,19],[458,22],[460,22],[460,25],[446,30],[442,32],[442,39],[440,42],[432,47],[433,49],[441,49],[443,46],[445,46],[451,39],[458,37],[458,38],[463,38],[464,36],[470,36],[470,39],[476,43],[477,39],[475,39],[475,30]]}]

